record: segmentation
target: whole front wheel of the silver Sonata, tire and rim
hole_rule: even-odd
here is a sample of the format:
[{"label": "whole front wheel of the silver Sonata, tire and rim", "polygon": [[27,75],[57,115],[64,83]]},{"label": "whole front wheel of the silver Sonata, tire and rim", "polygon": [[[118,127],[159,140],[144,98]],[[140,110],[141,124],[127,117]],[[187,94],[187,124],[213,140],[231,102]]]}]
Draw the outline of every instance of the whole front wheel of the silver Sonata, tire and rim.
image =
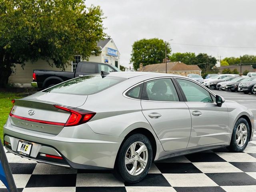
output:
[{"label": "whole front wheel of the silver Sonata, tire and rim", "polygon": [[237,120],[232,138],[229,146],[229,150],[234,152],[242,152],[250,140],[250,127],[246,119],[240,118]]}]

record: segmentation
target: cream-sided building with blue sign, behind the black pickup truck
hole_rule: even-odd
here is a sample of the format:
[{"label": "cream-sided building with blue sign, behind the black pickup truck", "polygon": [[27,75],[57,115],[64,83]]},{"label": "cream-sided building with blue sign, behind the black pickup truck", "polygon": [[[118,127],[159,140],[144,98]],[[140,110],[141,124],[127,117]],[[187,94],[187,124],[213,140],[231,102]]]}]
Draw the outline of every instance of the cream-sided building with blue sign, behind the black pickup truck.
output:
[{"label": "cream-sided building with blue sign, behind the black pickup truck", "polygon": [[[111,65],[120,68],[119,58],[120,53],[112,40],[112,38],[106,38],[97,43],[97,46],[100,48],[101,53],[98,56],[95,56],[93,53],[90,56],[90,62],[99,62],[99,63],[108,63]],[[75,55],[74,60],[68,64],[65,68],[65,71],[74,72],[76,70],[76,65],[78,62],[84,61],[81,56]],[[24,69],[20,64],[16,64],[14,68],[14,73],[9,77],[9,83],[17,87],[30,87],[32,82],[32,75],[34,69],[44,69],[44,70],[56,70],[61,71],[61,69],[56,68],[55,66],[50,66],[45,60],[38,60],[37,62],[25,62]]]}]

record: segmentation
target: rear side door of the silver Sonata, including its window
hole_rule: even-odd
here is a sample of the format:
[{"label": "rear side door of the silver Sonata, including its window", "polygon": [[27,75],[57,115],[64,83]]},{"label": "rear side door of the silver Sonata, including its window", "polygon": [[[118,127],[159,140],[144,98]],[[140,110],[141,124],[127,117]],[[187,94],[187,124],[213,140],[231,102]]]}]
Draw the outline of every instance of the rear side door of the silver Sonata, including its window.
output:
[{"label": "rear side door of the silver Sonata, including its window", "polygon": [[190,112],[178,93],[171,78],[148,80],[143,85],[142,113],[165,151],[186,148],[190,137]]}]

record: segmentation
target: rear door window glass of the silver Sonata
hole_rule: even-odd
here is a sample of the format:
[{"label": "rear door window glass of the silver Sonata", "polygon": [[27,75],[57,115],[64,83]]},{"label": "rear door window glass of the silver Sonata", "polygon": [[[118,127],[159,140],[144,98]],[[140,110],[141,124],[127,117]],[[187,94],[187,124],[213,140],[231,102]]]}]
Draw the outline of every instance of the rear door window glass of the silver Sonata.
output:
[{"label": "rear door window glass of the silver Sonata", "polygon": [[151,101],[179,101],[178,94],[170,79],[157,79],[144,83],[143,100]]}]

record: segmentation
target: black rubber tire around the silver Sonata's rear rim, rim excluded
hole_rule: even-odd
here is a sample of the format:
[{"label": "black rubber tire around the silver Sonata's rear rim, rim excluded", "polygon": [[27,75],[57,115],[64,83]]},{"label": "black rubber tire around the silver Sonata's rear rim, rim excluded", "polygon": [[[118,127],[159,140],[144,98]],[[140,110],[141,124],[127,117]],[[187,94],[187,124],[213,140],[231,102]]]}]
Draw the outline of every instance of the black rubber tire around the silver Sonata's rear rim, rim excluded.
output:
[{"label": "black rubber tire around the silver Sonata's rear rim, rim excluded", "polygon": [[[148,150],[148,162],[146,164],[146,167],[144,168],[143,172],[141,172],[137,176],[129,174],[126,170],[125,165],[126,152],[134,142],[142,142]],[[120,150],[116,157],[116,163],[114,166],[113,174],[118,180],[122,182],[137,183],[144,179],[148,174],[148,171],[152,163],[152,157],[153,151],[150,140],[143,134],[132,134],[123,142],[122,146],[120,147]]]}]

